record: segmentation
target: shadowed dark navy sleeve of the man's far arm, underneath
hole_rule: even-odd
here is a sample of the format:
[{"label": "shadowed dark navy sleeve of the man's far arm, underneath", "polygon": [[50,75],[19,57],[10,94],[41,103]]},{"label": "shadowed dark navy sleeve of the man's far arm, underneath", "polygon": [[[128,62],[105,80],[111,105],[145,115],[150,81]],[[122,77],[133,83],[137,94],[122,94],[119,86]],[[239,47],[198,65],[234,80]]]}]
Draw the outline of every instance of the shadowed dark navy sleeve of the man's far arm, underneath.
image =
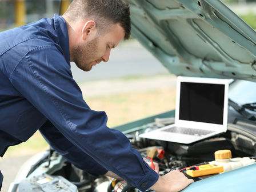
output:
[{"label": "shadowed dark navy sleeve of the man's far arm, underneath", "polygon": [[46,121],[39,131],[55,151],[79,169],[86,171],[94,177],[107,173],[104,167],[63,137],[50,121]]}]

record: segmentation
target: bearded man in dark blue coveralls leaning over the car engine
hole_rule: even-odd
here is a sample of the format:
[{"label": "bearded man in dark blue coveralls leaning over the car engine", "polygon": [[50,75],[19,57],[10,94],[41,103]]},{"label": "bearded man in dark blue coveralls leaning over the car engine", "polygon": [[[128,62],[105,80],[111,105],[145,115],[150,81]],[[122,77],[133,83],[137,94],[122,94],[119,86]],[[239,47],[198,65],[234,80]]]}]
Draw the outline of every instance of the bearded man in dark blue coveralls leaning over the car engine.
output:
[{"label": "bearded man in dark blue coveralls leaning over the car engine", "polygon": [[129,38],[129,14],[120,0],[74,0],[63,17],[0,33],[1,157],[39,129],[92,175],[119,177],[141,191],[178,191],[193,182],[179,171],[158,177],[125,135],[106,126],[106,114],[87,106],[72,77],[70,61],[89,71]]}]

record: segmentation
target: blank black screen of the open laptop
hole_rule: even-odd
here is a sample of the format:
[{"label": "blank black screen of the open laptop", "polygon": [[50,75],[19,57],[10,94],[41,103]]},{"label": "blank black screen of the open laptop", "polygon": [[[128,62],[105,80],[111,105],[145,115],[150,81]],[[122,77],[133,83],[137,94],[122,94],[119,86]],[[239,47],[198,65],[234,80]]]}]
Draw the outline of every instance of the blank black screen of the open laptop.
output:
[{"label": "blank black screen of the open laptop", "polygon": [[223,124],[225,85],[181,82],[179,119]]}]

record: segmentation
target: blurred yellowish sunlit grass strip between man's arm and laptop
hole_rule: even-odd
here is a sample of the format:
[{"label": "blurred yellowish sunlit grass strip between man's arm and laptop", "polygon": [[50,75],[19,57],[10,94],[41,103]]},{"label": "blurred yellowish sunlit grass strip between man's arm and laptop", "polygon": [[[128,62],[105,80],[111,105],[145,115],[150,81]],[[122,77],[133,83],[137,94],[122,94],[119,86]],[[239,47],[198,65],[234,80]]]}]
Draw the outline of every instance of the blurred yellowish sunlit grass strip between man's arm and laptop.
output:
[{"label": "blurred yellowish sunlit grass strip between man's arm and laptop", "polygon": [[114,127],[174,109],[175,89],[91,97],[86,102],[91,109],[106,111],[107,126]]}]

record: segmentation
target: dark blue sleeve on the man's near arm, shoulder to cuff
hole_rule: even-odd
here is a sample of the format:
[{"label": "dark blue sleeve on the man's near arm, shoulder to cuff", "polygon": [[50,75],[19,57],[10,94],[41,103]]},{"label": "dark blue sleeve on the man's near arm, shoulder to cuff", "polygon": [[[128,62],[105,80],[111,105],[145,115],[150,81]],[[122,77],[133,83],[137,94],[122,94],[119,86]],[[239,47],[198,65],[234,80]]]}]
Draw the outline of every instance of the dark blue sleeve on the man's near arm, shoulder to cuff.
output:
[{"label": "dark blue sleeve on the man's near arm, shoulder to cuff", "polygon": [[129,139],[106,126],[105,112],[91,110],[83,101],[69,63],[55,46],[41,46],[27,53],[10,81],[65,138],[106,170],[141,191],[157,181],[158,174],[131,147]]}]

